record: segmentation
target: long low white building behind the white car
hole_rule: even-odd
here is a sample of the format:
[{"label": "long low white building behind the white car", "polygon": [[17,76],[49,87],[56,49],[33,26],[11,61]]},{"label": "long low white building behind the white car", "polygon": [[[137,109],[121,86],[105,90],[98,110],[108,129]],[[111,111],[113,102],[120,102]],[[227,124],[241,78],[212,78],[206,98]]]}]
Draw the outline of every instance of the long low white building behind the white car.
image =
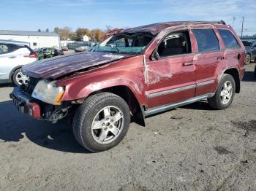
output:
[{"label": "long low white building behind the white car", "polygon": [[59,34],[37,31],[0,30],[0,39],[29,42],[32,49],[40,47],[61,47]]}]

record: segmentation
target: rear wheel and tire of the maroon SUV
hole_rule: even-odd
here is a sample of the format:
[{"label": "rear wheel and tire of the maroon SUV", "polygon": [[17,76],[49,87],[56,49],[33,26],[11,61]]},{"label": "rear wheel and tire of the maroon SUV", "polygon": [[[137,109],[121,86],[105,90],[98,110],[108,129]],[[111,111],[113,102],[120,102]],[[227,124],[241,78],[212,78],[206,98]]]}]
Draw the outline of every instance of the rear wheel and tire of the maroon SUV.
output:
[{"label": "rear wheel and tire of the maroon SUV", "polygon": [[[227,88],[225,88],[225,84]],[[230,87],[228,85],[231,85],[232,88],[229,91],[227,91]],[[235,93],[236,83],[234,78],[230,74],[223,74],[214,97],[208,98],[208,104],[214,109],[226,109],[232,104]]]}]

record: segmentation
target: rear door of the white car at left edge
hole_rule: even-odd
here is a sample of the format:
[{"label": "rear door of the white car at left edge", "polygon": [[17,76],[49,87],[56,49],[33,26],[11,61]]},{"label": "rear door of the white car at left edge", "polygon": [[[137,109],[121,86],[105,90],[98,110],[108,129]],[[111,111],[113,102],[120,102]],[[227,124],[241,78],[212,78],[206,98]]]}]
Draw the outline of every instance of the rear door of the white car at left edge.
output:
[{"label": "rear door of the white car at left edge", "polygon": [[9,79],[10,72],[20,61],[18,46],[0,43],[0,79]]}]

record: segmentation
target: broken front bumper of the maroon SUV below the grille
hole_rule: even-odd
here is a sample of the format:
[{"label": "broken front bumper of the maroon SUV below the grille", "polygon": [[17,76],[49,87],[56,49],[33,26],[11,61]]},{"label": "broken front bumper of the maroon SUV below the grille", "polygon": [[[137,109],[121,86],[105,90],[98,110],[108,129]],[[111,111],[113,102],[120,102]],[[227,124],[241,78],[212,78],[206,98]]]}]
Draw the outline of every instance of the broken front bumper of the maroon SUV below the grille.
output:
[{"label": "broken front bumper of the maroon SUV below the grille", "polygon": [[28,114],[35,119],[41,118],[41,108],[34,98],[20,90],[20,87],[14,87],[10,94],[12,102],[17,107],[18,111],[23,114]]}]

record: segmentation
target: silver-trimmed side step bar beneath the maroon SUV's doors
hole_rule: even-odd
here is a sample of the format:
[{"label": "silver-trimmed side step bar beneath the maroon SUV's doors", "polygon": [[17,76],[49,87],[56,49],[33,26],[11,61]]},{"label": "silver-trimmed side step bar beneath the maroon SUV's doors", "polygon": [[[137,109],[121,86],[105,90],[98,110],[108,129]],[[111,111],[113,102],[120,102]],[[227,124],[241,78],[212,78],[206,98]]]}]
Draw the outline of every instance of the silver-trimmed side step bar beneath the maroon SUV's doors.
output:
[{"label": "silver-trimmed side step bar beneath the maroon SUV's doors", "polygon": [[157,106],[157,107],[146,110],[145,111],[145,117],[147,117],[149,115],[152,115],[152,114],[157,114],[159,112],[165,112],[165,111],[168,111],[170,109],[174,109],[178,106],[184,106],[184,105],[192,104],[196,101],[200,101],[200,100],[203,100],[203,99],[206,99],[206,98],[211,98],[211,97],[214,96],[214,94],[215,93],[208,93],[208,94],[205,94],[205,95],[197,96],[195,98],[189,98],[185,101],[181,101],[181,102],[178,102],[178,103],[175,103],[175,104],[167,104],[167,105],[163,105],[163,106]]}]

